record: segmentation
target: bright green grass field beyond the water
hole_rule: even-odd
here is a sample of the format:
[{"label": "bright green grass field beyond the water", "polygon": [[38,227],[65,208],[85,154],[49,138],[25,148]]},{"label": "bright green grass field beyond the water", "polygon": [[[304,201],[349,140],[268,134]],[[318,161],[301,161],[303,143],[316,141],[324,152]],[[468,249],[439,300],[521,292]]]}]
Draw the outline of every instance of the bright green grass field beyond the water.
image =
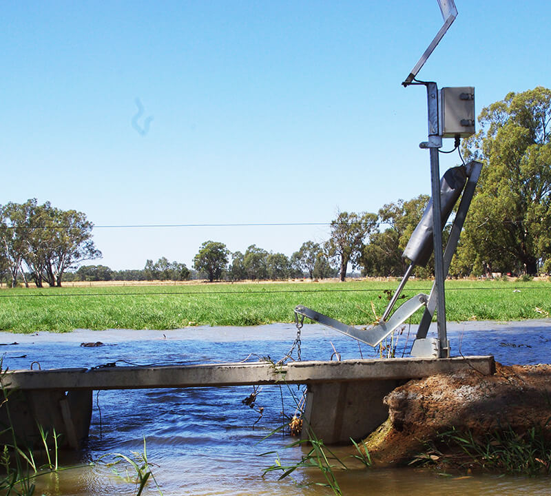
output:
[{"label": "bright green grass field beyond the water", "polygon": [[[0,329],[17,333],[74,329],[178,329],[195,325],[250,326],[293,321],[304,304],[347,324],[368,324],[386,307],[397,282],[187,284],[2,289]],[[430,291],[409,281],[404,294]],[[549,317],[551,282],[446,281],[450,321]],[[419,322],[421,312],[412,318]]]}]

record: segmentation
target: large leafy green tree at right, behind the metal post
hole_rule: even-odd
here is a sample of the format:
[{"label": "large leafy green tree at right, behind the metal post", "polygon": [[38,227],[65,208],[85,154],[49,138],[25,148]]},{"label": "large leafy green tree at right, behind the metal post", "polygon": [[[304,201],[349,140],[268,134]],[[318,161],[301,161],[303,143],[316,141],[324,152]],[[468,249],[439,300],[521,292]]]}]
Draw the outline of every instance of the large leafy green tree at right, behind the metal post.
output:
[{"label": "large leafy green tree at right, behind the metal post", "polygon": [[510,92],[485,107],[464,152],[484,162],[458,261],[537,273],[551,258],[551,90]]}]

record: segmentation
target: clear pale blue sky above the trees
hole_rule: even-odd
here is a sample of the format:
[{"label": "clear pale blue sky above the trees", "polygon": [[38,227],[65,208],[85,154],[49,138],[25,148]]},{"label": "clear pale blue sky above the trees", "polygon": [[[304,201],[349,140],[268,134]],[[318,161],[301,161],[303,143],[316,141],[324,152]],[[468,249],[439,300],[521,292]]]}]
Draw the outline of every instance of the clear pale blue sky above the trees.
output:
[{"label": "clear pale blue sky above the trees", "polygon": [[[420,79],[474,85],[477,113],[550,85],[548,1],[455,3]],[[428,194],[426,93],[400,83],[441,23],[436,0],[3,2],[0,203],[50,200],[96,226],[329,223]],[[209,239],[291,255],[327,237],[97,227],[92,263],[190,267]]]}]

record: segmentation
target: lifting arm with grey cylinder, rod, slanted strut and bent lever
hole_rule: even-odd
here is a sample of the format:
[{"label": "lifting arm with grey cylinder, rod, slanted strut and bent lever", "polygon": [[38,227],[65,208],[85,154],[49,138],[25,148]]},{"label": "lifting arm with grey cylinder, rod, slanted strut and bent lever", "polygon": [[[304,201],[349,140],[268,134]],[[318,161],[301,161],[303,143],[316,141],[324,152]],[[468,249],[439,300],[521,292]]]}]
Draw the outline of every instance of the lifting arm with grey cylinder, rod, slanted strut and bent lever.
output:
[{"label": "lifting arm with grey cylinder, rod, slanted strut and bent lever", "polygon": [[[465,222],[467,211],[470,207],[472,196],[475,194],[475,187],[477,185],[482,164],[477,161],[470,161],[467,165],[461,165],[459,167],[453,167],[448,169],[440,181],[440,203],[441,203],[441,228],[444,229],[446,221],[453,211],[453,207],[457,203],[461,192],[461,203],[459,203],[459,209],[453,222],[452,229],[450,231],[450,237],[446,245],[446,251],[444,251],[444,277],[448,274],[450,268],[450,262],[457,243],[459,242],[459,234]],[[430,255],[433,252],[433,206],[432,199],[429,201],[424,214],[419,221],[417,227],[413,231],[413,234],[408,241],[408,245],[402,254],[403,258],[408,258],[411,261],[410,266],[406,270],[404,277],[399,282],[399,285],[391,298],[388,306],[386,307],[383,316],[377,324],[370,327],[356,328],[344,324],[331,317],[324,316],[322,313],[318,313],[312,309],[304,307],[304,305],[297,305],[295,307],[295,313],[304,317],[307,317],[315,322],[319,322],[335,331],[339,331],[343,334],[349,335],[351,338],[365,342],[372,347],[376,347],[386,336],[391,334],[399,325],[403,324],[421,307],[425,307],[421,324],[417,330],[417,340],[426,338],[428,326],[437,304],[437,292],[435,291],[436,282],[433,284],[433,288],[430,290],[430,295],[419,293],[413,298],[410,298],[393,313],[391,318],[388,316],[397,301],[399,294],[404,289],[406,282],[413,271],[415,265],[426,265],[430,259]],[[388,320],[387,320],[388,319]]]}]

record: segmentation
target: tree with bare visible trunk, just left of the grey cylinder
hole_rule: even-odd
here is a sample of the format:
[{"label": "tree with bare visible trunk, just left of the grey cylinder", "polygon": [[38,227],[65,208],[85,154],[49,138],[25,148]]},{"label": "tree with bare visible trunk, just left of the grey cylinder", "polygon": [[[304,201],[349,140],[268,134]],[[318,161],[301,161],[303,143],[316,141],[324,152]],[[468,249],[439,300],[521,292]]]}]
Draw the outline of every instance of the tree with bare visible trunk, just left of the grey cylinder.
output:
[{"label": "tree with bare visible trunk, just left of the grey cylinder", "polygon": [[340,265],[340,280],[346,279],[346,267],[351,262],[357,267],[364,249],[364,240],[377,226],[375,214],[350,214],[340,212],[335,220],[331,221],[331,238],[325,243],[326,253],[338,260]]}]

